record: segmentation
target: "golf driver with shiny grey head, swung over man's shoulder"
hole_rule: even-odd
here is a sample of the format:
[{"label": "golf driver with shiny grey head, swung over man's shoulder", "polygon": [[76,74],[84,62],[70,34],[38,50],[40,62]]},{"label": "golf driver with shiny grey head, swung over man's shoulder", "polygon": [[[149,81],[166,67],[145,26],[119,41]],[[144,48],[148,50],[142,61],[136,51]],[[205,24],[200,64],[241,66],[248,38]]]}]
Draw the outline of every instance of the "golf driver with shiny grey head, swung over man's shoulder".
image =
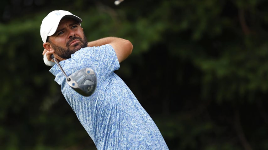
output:
[{"label": "golf driver with shiny grey head, swung over man's shoulder", "polygon": [[78,70],[75,73],[72,73],[70,76],[67,76],[59,61],[51,55],[51,58],[60,68],[64,76],[66,77],[67,84],[74,89],[77,93],[83,96],[90,96],[95,91],[97,86],[97,78],[93,69],[91,68],[83,68]]}]

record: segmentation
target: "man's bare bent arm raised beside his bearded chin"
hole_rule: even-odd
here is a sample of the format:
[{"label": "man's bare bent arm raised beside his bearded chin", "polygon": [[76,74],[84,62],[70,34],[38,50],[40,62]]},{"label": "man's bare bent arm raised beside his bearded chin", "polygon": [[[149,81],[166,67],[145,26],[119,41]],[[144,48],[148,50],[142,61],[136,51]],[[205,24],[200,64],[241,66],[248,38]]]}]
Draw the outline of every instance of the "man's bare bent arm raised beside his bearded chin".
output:
[{"label": "man's bare bent arm raised beside his bearded chin", "polygon": [[129,40],[118,37],[105,37],[99,40],[88,42],[88,47],[110,44],[116,53],[119,63],[125,60],[132,52],[133,45]]}]

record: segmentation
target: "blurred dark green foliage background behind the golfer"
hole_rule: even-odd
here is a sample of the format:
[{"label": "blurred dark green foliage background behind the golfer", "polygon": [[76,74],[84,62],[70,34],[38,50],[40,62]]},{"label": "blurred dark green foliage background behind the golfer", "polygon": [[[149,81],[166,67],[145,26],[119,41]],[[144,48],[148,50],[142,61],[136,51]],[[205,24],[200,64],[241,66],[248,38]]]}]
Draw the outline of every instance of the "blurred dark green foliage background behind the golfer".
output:
[{"label": "blurred dark green foliage background behind the golfer", "polygon": [[59,9],[83,19],[88,41],[133,43],[116,73],[170,149],[268,149],[268,1],[1,3],[0,149],[96,149],[43,63],[40,24]]}]

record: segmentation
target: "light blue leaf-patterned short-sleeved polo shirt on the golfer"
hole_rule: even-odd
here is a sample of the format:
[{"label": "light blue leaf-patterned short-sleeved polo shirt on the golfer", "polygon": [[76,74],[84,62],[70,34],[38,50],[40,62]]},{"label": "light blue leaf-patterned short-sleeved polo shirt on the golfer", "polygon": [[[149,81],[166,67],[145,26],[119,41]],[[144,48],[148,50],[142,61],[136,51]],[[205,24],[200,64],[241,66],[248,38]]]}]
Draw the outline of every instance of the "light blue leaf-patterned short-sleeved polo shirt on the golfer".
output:
[{"label": "light blue leaf-patterned short-sleeved polo shirt on the golfer", "polygon": [[83,97],[68,86],[56,65],[50,70],[99,150],[168,149],[152,118],[114,73],[120,65],[111,45],[82,48],[60,64],[67,76],[82,68],[92,68],[96,73],[95,92]]}]

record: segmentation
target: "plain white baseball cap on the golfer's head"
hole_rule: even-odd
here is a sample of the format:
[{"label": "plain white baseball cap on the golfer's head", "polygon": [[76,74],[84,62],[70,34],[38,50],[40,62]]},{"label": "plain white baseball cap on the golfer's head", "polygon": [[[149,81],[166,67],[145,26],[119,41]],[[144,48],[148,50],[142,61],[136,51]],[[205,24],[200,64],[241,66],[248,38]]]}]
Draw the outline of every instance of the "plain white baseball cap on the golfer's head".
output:
[{"label": "plain white baseball cap on the golfer's head", "polygon": [[65,10],[54,10],[50,12],[42,21],[41,27],[40,27],[40,35],[42,38],[42,41],[45,43],[48,36],[53,35],[58,25],[63,17],[69,17],[72,18],[79,23],[82,22],[82,19],[73,15],[71,12],[65,11]]}]

